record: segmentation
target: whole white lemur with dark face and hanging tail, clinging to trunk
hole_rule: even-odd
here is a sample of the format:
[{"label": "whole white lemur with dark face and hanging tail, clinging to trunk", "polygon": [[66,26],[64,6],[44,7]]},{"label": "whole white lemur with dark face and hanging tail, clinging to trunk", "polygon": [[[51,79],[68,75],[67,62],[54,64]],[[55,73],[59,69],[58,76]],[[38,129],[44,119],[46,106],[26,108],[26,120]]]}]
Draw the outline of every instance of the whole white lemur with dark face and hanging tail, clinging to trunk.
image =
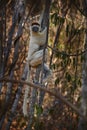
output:
[{"label": "whole white lemur with dark face and hanging tail, clinging to trunk", "polygon": [[[30,67],[37,68],[38,65],[42,64],[43,61],[43,50],[40,46],[45,45],[47,35],[47,27],[43,30],[41,29],[41,24],[39,22],[34,22],[30,26],[30,43],[28,50],[27,63]],[[47,59],[48,51],[45,51],[45,60]],[[43,65],[44,77],[43,83],[46,83],[52,77],[51,70],[48,68],[46,63]],[[29,76],[29,74],[28,74]],[[27,77],[27,80],[29,77]],[[28,97],[28,87],[25,90],[24,103],[23,103],[23,113],[27,115],[27,97]]]}]

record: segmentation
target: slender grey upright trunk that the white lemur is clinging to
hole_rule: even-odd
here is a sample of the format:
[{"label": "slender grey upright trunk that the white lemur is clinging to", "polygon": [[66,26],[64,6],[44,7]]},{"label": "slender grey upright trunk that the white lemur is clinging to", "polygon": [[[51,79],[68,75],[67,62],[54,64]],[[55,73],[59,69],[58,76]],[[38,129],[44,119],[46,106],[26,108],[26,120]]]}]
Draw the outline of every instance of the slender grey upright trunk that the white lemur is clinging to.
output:
[{"label": "slender grey upright trunk that the white lemur is clinging to", "polygon": [[[51,4],[51,0],[48,0],[48,1],[45,0],[45,11],[44,11],[44,16],[43,16],[43,20],[42,20],[42,28],[44,28],[46,26],[49,28],[50,4]],[[35,84],[42,82],[43,65],[44,65],[44,60],[45,60],[45,49],[46,49],[47,43],[48,43],[48,29],[47,29],[46,43],[45,43],[44,51],[43,51],[43,63],[42,63],[42,65],[39,65],[36,69],[36,74],[35,74],[35,79],[34,79]],[[40,77],[41,72],[42,72],[42,74]],[[41,81],[40,81],[40,79],[41,79]],[[44,94],[45,94],[44,92],[40,91],[39,101],[38,101],[39,105],[41,105],[43,102]],[[31,128],[32,128],[33,117],[34,117],[34,107],[36,104],[36,99],[37,99],[37,90],[35,88],[32,88],[31,97],[30,97],[30,107],[29,107],[29,123],[28,123],[26,130],[31,130]]]}]

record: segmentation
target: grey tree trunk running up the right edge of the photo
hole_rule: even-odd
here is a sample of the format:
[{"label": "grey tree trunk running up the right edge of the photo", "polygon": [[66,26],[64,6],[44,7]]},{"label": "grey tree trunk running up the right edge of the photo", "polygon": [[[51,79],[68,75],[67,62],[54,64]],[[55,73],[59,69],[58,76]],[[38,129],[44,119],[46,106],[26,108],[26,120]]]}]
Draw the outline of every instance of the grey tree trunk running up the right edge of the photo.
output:
[{"label": "grey tree trunk running up the right edge of the photo", "polygon": [[[87,0],[84,2],[84,23],[85,23],[85,34],[84,34],[84,49],[87,49]],[[84,62],[82,65],[82,100],[81,100],[81,113],[87,117],[87,51],[84,54]],[[78,130],[87,130],[87,122],[80,117]]]}]

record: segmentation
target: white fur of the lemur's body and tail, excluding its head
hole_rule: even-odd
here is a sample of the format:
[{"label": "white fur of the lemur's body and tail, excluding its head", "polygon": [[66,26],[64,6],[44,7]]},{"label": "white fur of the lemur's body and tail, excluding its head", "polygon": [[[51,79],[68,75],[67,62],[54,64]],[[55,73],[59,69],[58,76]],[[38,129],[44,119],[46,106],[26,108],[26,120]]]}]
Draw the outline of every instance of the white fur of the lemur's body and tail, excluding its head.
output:
[{"label": "white fur of the lemur's body and tail, excluding its head", "polygon": [[[33,32],[32,28],[30,28],[30,43],[29,43],[29,50],[28,50],[28,65],[31,65],[32,67],[38,66],[41,64],[43,59],[43,49],[39,50],[39,47],[41,45],[44,45],[46,42],[46,32],[47,28],[43,31],[39,32]],[[47,49],[45,55],[47,56]],[[46,57],[45,56],[45,57]],[[27,81],[30,80],[30,70],[28,70],[28,76]],[[24,102],[23,102],[23,114],[24,116],[28,116],[27,112],[27,99],[28,99],[28,93],[29,93],[29,86],[26,86],[25,94],[24,94]]]}]

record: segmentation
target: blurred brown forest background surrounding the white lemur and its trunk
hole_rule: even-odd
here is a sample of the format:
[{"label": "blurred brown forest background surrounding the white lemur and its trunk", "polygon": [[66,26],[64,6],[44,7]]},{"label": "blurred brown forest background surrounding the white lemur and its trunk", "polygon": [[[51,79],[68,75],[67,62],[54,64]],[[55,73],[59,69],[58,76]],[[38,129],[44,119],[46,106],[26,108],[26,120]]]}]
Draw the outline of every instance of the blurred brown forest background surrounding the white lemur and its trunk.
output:
[{"label": "blurred brown forest background surrounding the white lemur and its trunk", "polygon": [[[0,130],[87,130],[87,0],[44,2],[53,73],[46,88],[26,82],[29,26],[42,1],[0,0]],[[30,91],[32,118],[22,112],[26,85],[44,98],[39,106]]]}]

